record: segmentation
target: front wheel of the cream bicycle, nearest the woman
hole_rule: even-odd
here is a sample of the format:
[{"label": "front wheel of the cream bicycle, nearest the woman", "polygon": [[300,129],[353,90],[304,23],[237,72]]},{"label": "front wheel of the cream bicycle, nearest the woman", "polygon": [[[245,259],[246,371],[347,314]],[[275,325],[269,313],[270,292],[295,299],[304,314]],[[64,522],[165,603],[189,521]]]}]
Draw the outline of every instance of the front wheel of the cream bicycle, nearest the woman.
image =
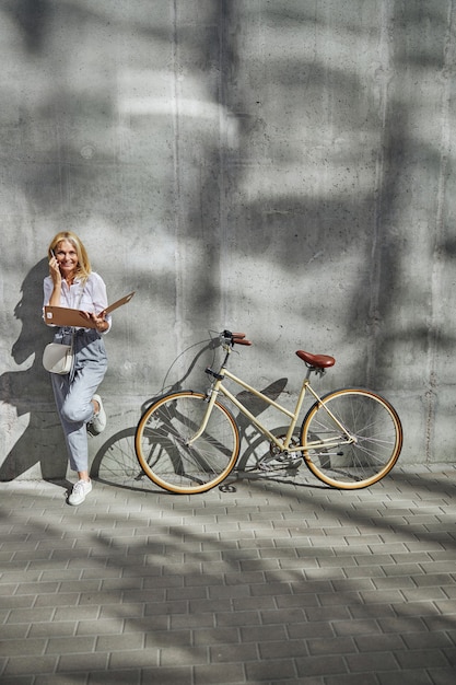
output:
[{"label": "front wheel of the cream bicycle, nearest the woman", "polygon": [[145,475],[171,492],[194,495],[219,485],[234,467],[239,431],[231,411],[215,402],[203,433],[190,445],[208,408],[206,395],[179,392],[155,402],[135,436]]}]

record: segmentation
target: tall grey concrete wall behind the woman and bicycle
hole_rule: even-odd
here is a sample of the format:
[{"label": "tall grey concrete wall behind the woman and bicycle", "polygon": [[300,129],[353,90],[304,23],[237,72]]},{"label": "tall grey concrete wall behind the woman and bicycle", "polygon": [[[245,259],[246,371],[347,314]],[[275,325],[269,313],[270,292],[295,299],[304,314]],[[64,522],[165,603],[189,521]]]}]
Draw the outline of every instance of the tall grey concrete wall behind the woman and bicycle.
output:
[{"label": "tall grey concrete wall behind the woman and bicycle", "polygon": [[[101,458],[164,388],[234,367],[297,387],[296,349],[454,458],[451,0],[3,0],[1,478],[66,473],[42,369],[47,245],[79,233],[114,315]],[[288,397],[290,395],[290,397]]]}]

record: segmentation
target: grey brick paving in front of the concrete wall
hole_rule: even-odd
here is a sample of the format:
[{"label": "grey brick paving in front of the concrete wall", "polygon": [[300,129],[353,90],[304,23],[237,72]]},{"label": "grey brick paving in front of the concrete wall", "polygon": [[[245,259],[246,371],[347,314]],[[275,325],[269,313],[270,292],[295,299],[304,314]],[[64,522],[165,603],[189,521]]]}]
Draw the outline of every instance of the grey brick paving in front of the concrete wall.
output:
[{"label": "grey brick paving in front of the concrete wall", "polygon": [[0,683],[454,685],[455,485],[0,484]]}]

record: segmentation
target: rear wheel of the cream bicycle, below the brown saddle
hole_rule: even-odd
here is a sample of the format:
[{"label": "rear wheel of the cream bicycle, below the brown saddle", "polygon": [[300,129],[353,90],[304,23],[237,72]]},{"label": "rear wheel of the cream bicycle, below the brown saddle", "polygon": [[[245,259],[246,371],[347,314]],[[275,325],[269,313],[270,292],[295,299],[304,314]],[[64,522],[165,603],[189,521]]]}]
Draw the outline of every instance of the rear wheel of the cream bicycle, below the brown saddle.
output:
[{"label": "rear wheel of the cream bicycle, below the brown saddle", "polygon": [[402,446],[402,427],[395,408],[376,393],[339,390],[311,407],[301,444],[305,463],[317,478],[354,490],[390,472]]}]

